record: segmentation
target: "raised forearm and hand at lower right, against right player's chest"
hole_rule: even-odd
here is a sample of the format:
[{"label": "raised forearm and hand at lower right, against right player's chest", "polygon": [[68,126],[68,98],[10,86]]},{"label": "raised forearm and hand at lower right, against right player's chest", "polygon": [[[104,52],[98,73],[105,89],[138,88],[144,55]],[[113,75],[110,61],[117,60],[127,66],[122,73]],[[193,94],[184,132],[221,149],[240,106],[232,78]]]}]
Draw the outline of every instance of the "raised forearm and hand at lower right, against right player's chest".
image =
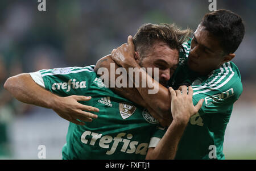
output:
[{"label": "raised forearm and hand at lower right, against right player's chest", "polygon": [[196,106],[193,105],[193,90],[191,86],[188,87],[188,94],[186,86],[181,86],[181,89],[182,93],[180,90],[175,91],[171,87],[169,88],[172,95],[171,112],[174,120],[156,147],[148,149],[146,160],[174,159],[177,152],[177,145],[179,144],[189,118],[195,115],[203,105],[203,99],[201,99]]}]

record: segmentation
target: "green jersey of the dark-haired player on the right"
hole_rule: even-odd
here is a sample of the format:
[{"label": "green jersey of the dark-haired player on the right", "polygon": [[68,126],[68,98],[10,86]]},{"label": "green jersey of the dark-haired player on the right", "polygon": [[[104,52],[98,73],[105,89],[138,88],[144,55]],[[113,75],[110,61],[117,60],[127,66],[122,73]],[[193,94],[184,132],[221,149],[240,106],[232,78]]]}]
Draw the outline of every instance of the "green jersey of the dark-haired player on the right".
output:
[{"label": "green jersey of the dark-haired player on the right", "polygon": [[226,62],[202,77],[189,70],[187,59],[191,40],[183,44],[179,66],[169,81],[177,89],[192,85],[193,104],[204,99],[203,106],[193,116],[180,140],[176,159],[225,159],[223,141],[233,104],[242,93],[240,72],[233,62]]}]

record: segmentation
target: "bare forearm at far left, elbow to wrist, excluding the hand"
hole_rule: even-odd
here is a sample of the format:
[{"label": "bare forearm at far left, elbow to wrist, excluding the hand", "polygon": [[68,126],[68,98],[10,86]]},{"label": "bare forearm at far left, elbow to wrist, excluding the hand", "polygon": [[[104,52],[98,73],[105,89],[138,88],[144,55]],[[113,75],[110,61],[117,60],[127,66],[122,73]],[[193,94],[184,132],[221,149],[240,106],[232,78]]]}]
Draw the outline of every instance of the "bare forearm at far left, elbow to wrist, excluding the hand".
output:
[{"label": "bare forearm at far left, elbow to wrist, excluding the hand", "polygon": [[52,108],[52,102],[58,98],[57,95],[36,84],[28,73],[8,78],[4,87],[20,102],[49,109]]}]

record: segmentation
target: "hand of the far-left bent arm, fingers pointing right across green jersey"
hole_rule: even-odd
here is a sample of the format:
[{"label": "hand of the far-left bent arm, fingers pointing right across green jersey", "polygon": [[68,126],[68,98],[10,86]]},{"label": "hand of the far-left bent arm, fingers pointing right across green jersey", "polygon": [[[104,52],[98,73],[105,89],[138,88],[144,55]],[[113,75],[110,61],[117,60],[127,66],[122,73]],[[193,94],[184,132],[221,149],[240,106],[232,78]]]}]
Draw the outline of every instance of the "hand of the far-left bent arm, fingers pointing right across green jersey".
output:
[{"label": "hand of the far-left bent arm, fingers pointing right across green jersey", "polygon": [[[98,112],[99,109],[92,106],[82,105],[78,101],[89,101],[92,97],[82,95],[71,95],[68,97],[58,97],[52,105],[52,109],[63,119],[73,122],[75,124],[84,125],[80,122],[92,122],[92,118],[98,118],[97,115],[88,111]],[[79,119],[79,120],[77,120]]]}]

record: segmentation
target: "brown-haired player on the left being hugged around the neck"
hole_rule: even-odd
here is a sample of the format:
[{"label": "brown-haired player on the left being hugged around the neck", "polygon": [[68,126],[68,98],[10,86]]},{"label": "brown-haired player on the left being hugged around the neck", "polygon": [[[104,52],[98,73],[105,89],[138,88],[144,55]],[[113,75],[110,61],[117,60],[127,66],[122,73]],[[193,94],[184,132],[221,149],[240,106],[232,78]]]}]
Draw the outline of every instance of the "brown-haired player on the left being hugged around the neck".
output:
[{"label": "brown-haired player on the left being hugged around the neck", "polygon": [[[138,38],[137,47],[143,49],[137,55],[151,62],[160,59],[170,66],[176,65],[180,45],[187,39],[188,33],[168,25],[144,25],[135,35]],[[155,51],[159,48],[161,51]],[[153,53],[159,57],[152,56]],[[151,62],[142,66],[148,68]],[[159,70],[159,74],[163,72]],[[159,77],[162,79],[162,76]],[[51,108],[71,121],[67,143],[63,147],[63,159],[145,159],[148,147],[155,147],[155,144],[150,144],[151,137],[155,139],[164,134],[158,127],[158,120],[152,118],[147,109],[106,87],[94,72],[93,65],[19,74],[9,78],[5,88],[19,101]],[[156,148],[147,154],[147,159],[174,159],[177,143],[189,118],[203,104],[200,101],[193,106],[191,87],[188,94],[187,89],[183,94],[171,88],[170,92],[174,122]],[[92,121],[92,118],[97,119]],[[89,122],[84,125],[83,121]]]}]

